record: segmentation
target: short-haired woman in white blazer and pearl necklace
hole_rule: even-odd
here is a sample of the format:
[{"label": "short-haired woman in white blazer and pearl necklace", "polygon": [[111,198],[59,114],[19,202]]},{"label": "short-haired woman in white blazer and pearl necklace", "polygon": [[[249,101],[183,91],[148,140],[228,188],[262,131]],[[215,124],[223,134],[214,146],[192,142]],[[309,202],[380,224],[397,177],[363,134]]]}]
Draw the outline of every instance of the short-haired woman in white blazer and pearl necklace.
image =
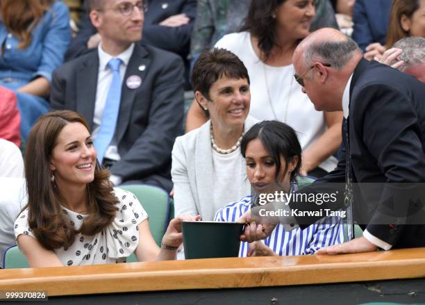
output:
[{"label": "short-haired woman in white blazer and pearl necklace", "polygon": [[192,88],[210,119],[174,143],[175,213],[213,220],[224,203],[251,191],[239,147],[244,132],[258,121],[248,117],[247,68],[230,51],[202,53],[193,68]]}]

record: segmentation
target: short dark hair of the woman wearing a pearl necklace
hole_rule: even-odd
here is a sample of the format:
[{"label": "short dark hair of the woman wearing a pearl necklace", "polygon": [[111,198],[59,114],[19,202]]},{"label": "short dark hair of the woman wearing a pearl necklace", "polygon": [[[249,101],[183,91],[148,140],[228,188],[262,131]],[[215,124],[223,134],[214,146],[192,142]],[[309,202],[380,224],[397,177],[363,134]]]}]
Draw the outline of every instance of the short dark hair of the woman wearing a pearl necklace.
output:
[{"label": "short dark hair of the woman wearing a pearl necklace", "polygon": [[192,71],[192,89],[210,99],[210,88],[217,79],[226,76],[229,79],[247,79],[247,68],[242,60],[231,51],[214,48],[201,53]]}]

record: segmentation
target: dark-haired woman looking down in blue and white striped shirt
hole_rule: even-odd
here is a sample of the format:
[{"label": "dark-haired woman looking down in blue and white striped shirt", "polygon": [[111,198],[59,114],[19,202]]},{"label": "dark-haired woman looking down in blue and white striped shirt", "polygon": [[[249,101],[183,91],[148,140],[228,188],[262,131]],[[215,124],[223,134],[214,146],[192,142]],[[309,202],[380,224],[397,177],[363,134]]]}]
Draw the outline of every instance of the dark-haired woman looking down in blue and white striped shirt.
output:
[{"label": "dark-haired woman looking down in blue and white striped shirt", "polygon": [[[298,176],[301,146],[290,126],[277,121],[263,121],[249,129],[241,142],[241,153],[247,164],[251,195],[217,211],[215,221],[235,222],[252,206],[259,204],[261,194],[274,190],[294,192],[307,183]],[[315,254],[318,249],[343,242],[344,231],[339,217],[328,217],[306,229],[290,232],[278,224],[265,240],[241,242],[239,256],[274,256]]]}]

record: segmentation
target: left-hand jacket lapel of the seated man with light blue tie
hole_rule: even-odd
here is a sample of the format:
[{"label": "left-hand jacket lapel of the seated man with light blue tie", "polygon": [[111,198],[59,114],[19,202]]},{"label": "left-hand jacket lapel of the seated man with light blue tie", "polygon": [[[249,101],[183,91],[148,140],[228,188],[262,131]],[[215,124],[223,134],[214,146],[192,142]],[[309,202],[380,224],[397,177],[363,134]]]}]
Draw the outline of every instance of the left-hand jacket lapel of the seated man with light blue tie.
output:
[{"label": "left-hand jacket lapel of the seated man with light blue tie", "polygon": [[99,56],[97,51],[81,63],[76,72],[76,111],[87,119],[93,129],[94,104],[96,103]]}]

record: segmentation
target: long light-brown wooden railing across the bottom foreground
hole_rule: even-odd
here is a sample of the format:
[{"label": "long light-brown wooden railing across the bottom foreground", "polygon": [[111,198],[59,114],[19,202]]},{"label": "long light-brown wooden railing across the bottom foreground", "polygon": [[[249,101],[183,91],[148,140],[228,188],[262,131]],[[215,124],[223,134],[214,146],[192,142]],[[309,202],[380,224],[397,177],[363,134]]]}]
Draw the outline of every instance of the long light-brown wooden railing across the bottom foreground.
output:
[{"label": "long light-brown wooden railing across the bottom foreground", "polygon": [[0,291],[49,296],[248,288],[425,277],[425,248],[340,256],[274,256],[0,270]]}]

